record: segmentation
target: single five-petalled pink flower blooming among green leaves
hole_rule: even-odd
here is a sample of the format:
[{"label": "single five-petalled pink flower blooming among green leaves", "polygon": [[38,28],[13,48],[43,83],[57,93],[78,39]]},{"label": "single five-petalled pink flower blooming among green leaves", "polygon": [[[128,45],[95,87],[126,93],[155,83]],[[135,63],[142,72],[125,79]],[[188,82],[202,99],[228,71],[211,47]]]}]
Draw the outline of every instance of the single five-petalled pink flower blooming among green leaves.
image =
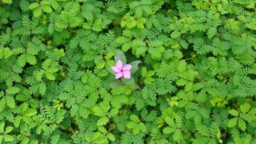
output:
[{"label": "single five-petalled pink flower blooming among green leaves", "polygon": [[125,79],[130,79],[131,78],[131,65],[130,64],[126,64],[123,65],[123,63],[121,62],[121,60],[118,60],[116,62],[116,66],[111,67],[113,71],[115,71],[116,74],[116,79],[119,79],[120,77],[125,77]]}]

